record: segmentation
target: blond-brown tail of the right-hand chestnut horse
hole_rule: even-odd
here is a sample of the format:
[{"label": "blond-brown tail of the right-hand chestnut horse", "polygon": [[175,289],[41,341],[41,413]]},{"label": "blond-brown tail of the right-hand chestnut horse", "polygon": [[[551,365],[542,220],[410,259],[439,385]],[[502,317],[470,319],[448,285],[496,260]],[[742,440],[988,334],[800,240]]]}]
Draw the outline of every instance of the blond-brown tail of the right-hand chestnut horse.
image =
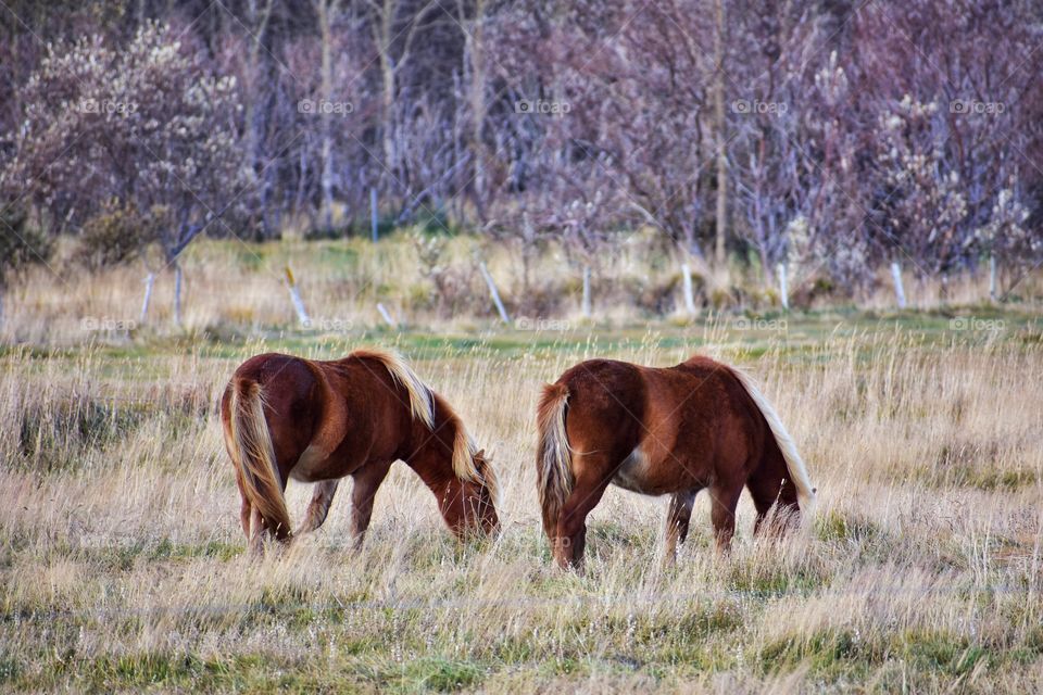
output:
[{"label": "blond-brown tail of the right-hand chestnut horse", "polygon": [[568,387],[549,383],[537,410],[540,441],[536,454],[536,486],[543,510],[543,531],[553,540],[557,518],[573,491],[573,454],[565,430]]}]

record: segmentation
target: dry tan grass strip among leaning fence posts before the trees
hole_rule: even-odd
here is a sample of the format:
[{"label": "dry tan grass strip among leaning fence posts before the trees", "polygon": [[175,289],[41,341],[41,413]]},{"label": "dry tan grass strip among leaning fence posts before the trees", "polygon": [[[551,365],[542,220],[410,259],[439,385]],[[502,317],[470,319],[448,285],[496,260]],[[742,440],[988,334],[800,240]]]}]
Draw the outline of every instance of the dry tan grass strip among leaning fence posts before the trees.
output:
[{"label": "dry tan grass strip among leaning fence posts before the trees", "polygon": [[[414,329],[480,330],[495,317],[489,291],[477,270],[481,257],[495,278],[512,320],[522,328],[583,324],[580,261],[557,244],[541,249],[530,261],[529,282],[516,244],[482,241],[473,236],[426,237],[442,248],[437,267],[447,289],[425,271],[412,232],[372,244],[367,240],[251,243],[201,240],[181,258],[185,271],[184,316],[173,326],[174,275],[159,273],[149,314],[140,321],[147,269],[143,264],[92,274],[76,265],[70,240],[48,267],[35,268],[9,289],[3,300],[0,341],[34,344],[78,344],[101,339],[169,337],[183,331],[219,340],[243,340],[261,333],[298,328],[285,282],[289,266],[299,282],[314,323],[314,334],[351,334],[382,330],[377,303]],[[687,320],[681,299],[679,260],[667,255],[649,235],[634,235],[612,251],[598,254],[593,270],[593,312],[600,325],[630,326],[646,320]],[[154,267],[154,266],[153,266]],[[815,268],[791,270],[794,302],[810,302],[821,311],[838,305],[866,311],[894,306],[890,275],[856,298],[819,293],[809,288],[819,278]],[[987,273],[952,278],[942,291],[938,281],[918,281],[907,264],[905,290],[909,307],[944,309],[946,305],[980,305],[989,296]],[[1043,299],[1043,273],[1027,275],[1007,268],[1001,291],[1031,302]],[[696,302],[714,311],[779,309],[775,289],[766,289],[759,273],[731,268],[730,282],[694,278]],[[944,300],[943,300],[944,294]],[[807,308],[801,305],[801,308]],[[129,328],[129,331],[127,330]]]}]

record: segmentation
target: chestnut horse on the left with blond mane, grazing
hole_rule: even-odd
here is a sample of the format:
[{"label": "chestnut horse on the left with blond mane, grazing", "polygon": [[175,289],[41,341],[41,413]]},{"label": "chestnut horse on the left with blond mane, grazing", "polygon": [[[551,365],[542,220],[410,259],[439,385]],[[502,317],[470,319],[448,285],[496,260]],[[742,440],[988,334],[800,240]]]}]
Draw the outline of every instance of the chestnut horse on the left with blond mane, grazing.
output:
[{"label": "chestnut horse on the left with blond mane, grazing", "polygon": [[351,476],[351,532],[361,545],[377,489],[398,459],[435,493],[457,535],[499,526],[492,467],[449,404],[398,355],[251,357],[225,389],[221,422],[242,496],[242,530],[255,552],[267,533],[292,535],[282,494],[290,478],[317,483],[297,531],[304,533],[323,525],[339,479]]}]

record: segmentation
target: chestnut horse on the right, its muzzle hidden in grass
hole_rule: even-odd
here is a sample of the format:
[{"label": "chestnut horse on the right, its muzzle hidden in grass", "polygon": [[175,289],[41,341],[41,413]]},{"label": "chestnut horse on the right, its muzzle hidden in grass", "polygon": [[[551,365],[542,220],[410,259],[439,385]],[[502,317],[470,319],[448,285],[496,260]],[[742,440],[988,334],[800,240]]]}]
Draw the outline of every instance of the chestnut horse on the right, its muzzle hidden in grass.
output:
[{"label": "chestnut horse on the right, its muzzle hidden in grass", "polygon": [[[717,546],[727,549],[749,488],[755,530],[778,503],[784,525],[815,498],[775,408],[747,376],[708,357],[665,369],[582,362],[543,388],[537,416],[543,530],[562,567],[580,565],[587,515],[608,483],[673,494],[666,558],[688,535],[695,494],[708,489]],[[792,522],[792,521],[791,521]]]}]

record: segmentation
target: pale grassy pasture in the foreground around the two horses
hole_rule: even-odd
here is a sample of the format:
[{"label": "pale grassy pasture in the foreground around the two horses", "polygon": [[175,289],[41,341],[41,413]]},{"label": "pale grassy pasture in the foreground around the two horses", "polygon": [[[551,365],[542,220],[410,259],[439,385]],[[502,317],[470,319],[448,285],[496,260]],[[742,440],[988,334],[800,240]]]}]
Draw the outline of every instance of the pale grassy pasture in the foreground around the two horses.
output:
[{"label": "pale grassy pasture in the foreground around the two horses", "polygon": [[[129,300],[128,300],[129,301]],[[1043,325],[1016,312],[691,325],[138,337],[0,355],[0,687],[291,692],[1039,692]],[[264,336],[264,333],[257,333]],[[251,560],[215,403],[246,356],[395,348],[491,452],[503,532],[458,544],[404,466],[365,548],[348,495]],[[538,388],[591,356],[747,367],[819,489],[784,542],[611,489],[582,576],[551,567]],[[300,518],[310,494],[291,483]]]}]

